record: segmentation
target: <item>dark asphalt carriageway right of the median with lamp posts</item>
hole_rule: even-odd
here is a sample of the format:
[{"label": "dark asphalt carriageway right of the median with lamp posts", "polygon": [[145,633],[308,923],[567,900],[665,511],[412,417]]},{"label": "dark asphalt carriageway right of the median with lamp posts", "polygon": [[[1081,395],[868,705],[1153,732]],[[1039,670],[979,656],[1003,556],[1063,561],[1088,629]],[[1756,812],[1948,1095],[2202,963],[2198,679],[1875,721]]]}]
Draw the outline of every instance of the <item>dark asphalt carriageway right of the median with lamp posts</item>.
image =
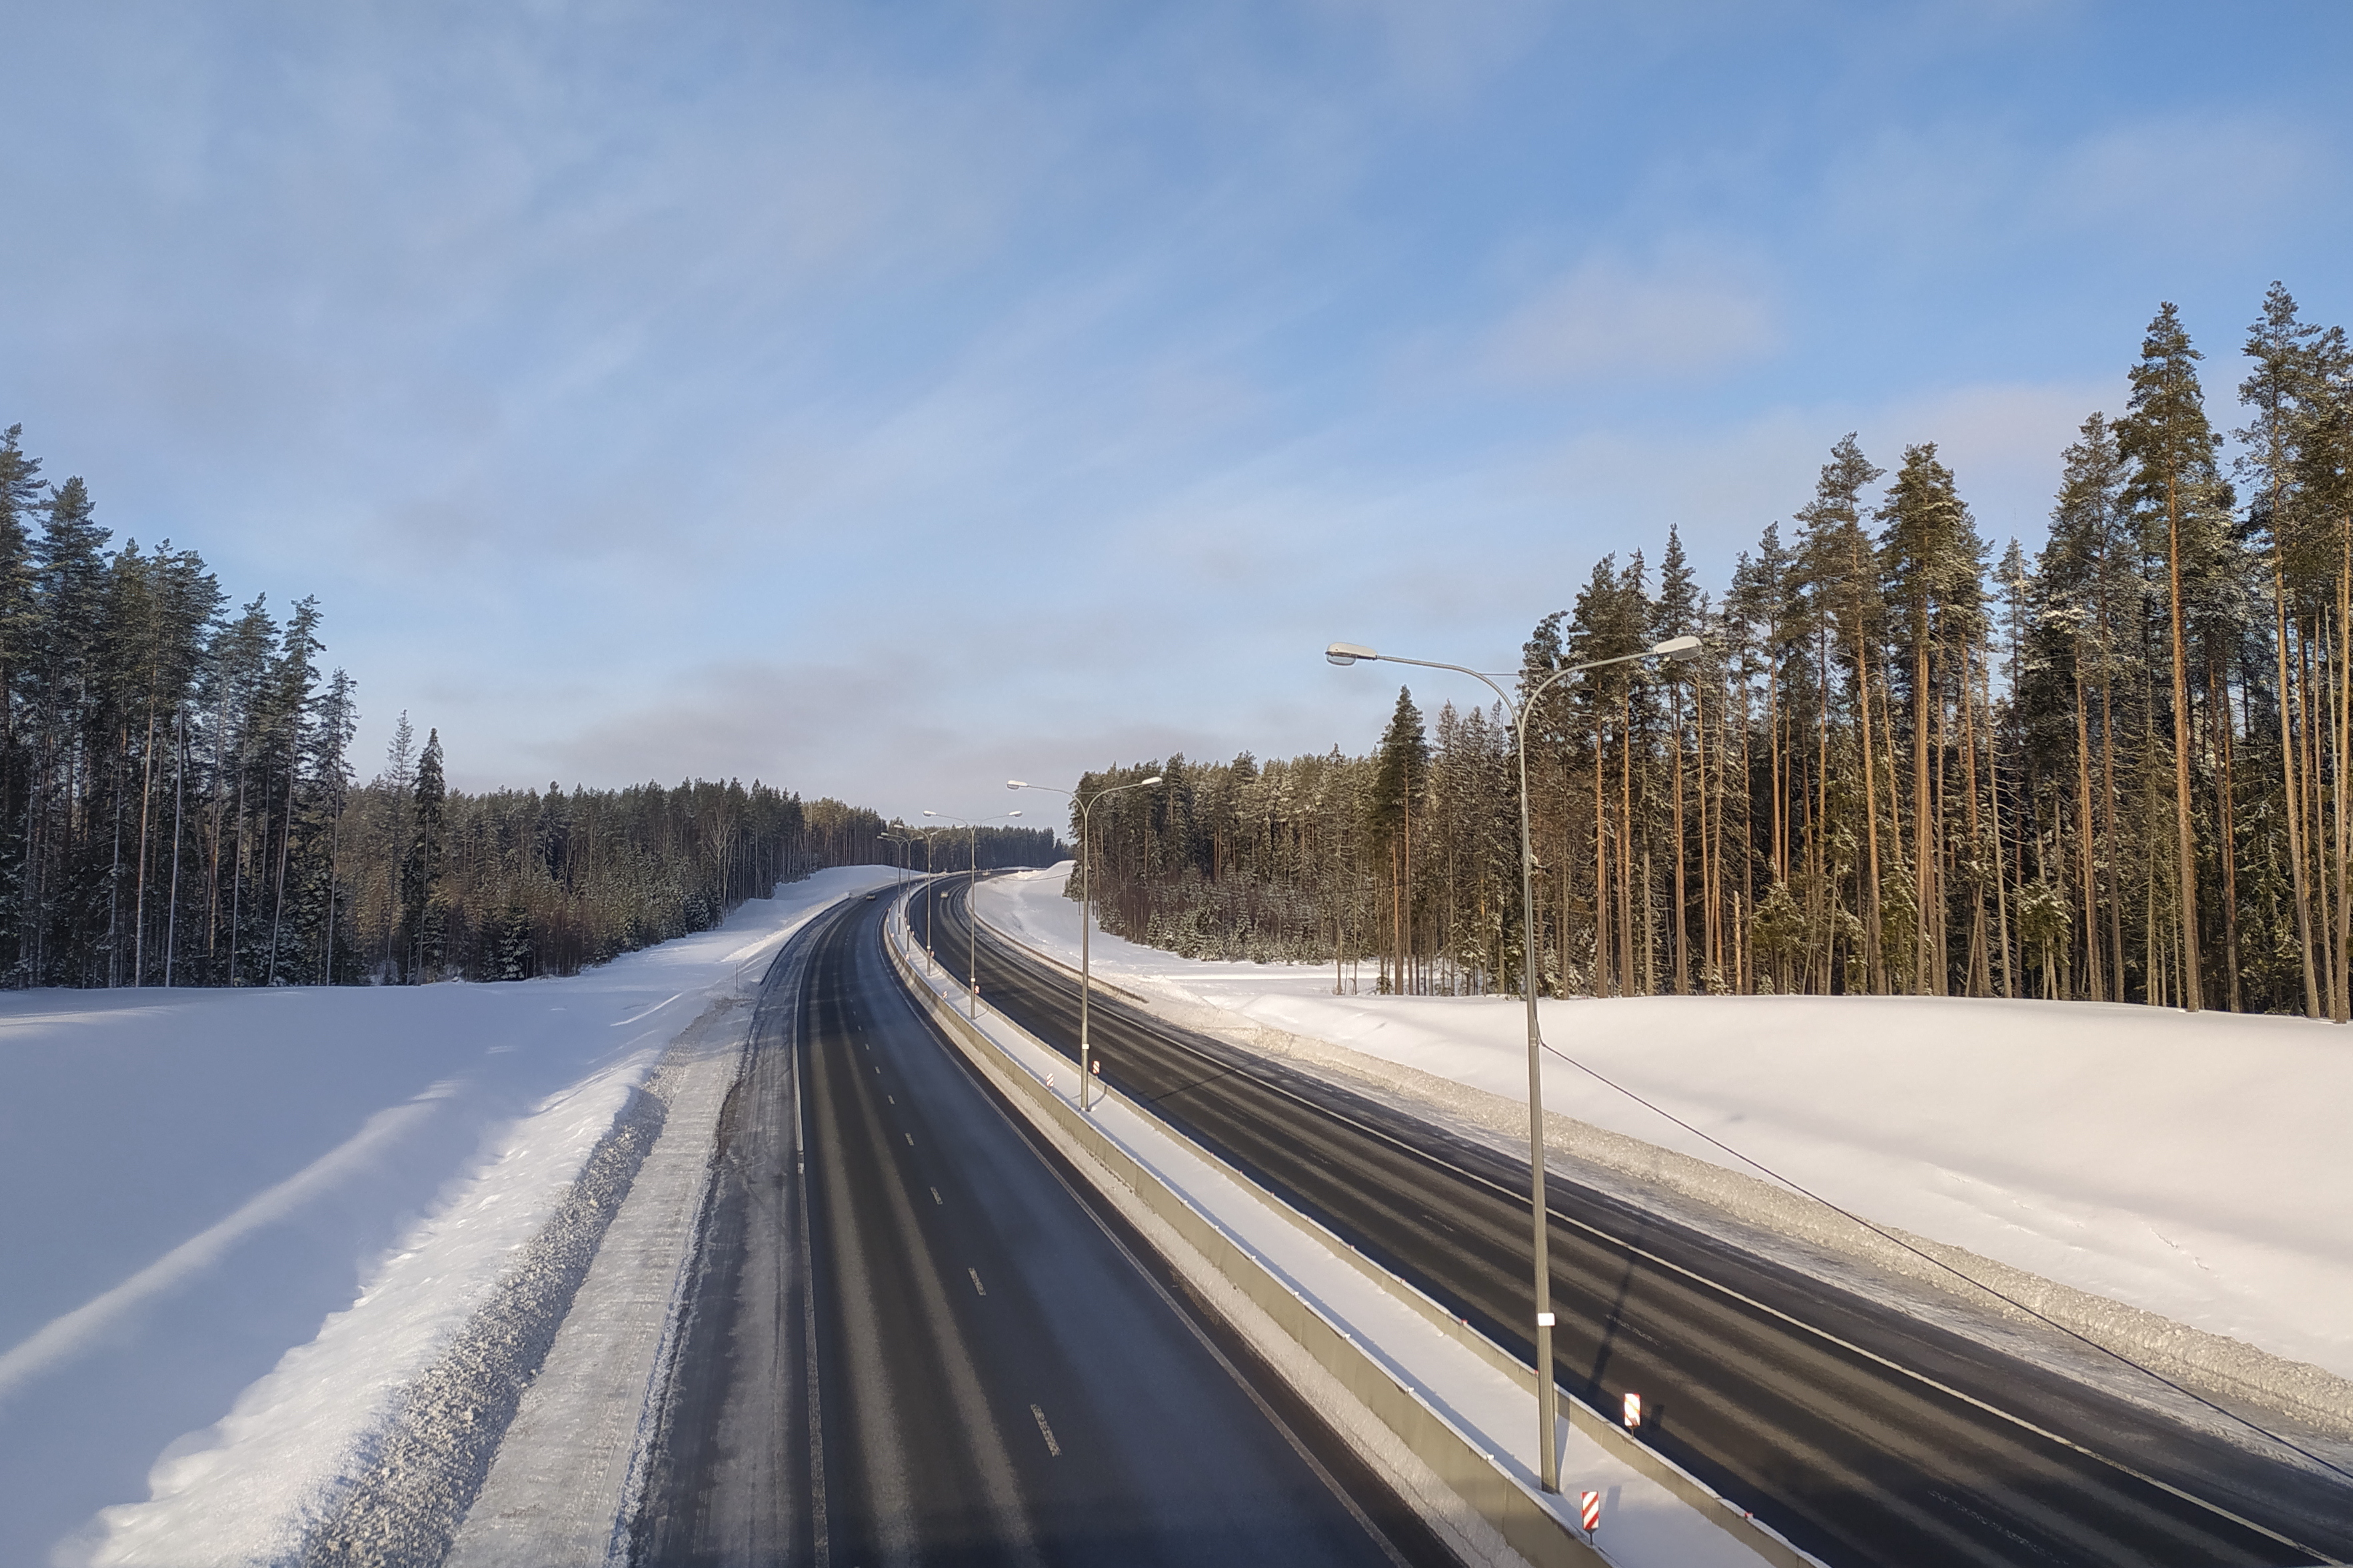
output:
[{"label": "dark asphalt carriageway right of the median with lamp posts", "polygon": [[[915,907],[915,929],[936,924],[932,940],[960,976],[962,900],[951,879]],[[986,1004],[1075,1053],[1075,978],[981,929],[979,980]],[[1092,1039],[1120,1093],[1499,1345],[1534,1354],[1525,1159],[1101,990]],[[1640,1392],[1652,1443],[1831,1563],[2353,1556],[2353,1488],[2339,1479],[2184,1429],[1558,1175],[1546,1206],[1562,1387],[1607,1410]]]}]

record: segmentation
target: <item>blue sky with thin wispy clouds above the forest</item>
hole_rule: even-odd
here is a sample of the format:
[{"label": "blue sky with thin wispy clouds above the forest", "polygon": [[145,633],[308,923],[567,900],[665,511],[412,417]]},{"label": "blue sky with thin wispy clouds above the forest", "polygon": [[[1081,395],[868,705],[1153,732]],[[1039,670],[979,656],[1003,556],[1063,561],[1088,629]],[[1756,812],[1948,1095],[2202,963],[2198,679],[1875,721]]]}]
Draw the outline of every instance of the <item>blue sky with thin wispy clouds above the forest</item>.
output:
[{"label": "blue sky with thin wispy clouds above the forest", "polygon": [[[2160,299],[2353,320],[2353,7],[0,9],[0,423],[315,592],[362,771],[882,811],[1362,750],[1845,430],[2040,536]],[[1442,677],[1433,677],[1442,682]],[[1417,682],[1426,705],[1468,698]],[[1033,804],[1035,809],[1035,804]]]}]

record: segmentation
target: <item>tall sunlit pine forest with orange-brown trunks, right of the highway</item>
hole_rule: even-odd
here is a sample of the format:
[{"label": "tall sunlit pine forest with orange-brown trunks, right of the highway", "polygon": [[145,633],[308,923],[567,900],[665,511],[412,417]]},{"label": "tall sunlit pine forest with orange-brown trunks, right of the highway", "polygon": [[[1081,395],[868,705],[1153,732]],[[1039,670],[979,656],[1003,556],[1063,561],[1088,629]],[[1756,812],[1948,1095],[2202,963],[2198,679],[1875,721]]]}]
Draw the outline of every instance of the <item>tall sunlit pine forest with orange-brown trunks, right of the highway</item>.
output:
[{"label": "tall sunlit pine forest with orange-brown trunks, right of the highway", "polygon": [[[2245,353],[2226,449],[2162,306],[2035,555],[1993,555],[1934,444],[1887,473],[1849,435],[1720,595],[1673,531],[1657,576],[1595,564],[1529,635],[1522,696],[1704,646],[1567,677],[1529,719],[1544,990],[2346,1020],[2353,353],[2280,284]],[[1341,985],[1518,987],[1513,748],[1501,705],[1426,724],[1400,691],[1362,757],[1089,776],[1167,773],[1099,813],[1104,922]]]}]

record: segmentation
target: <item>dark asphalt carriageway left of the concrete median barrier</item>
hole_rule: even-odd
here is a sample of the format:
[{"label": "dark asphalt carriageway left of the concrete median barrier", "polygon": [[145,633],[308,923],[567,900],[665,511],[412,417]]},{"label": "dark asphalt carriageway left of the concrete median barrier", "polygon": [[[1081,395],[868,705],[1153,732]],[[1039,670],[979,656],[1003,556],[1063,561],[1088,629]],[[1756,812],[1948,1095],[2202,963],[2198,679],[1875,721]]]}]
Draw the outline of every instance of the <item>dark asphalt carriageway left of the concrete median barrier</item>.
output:
[{"label": "dark asphalt carriageway left of the concrete median barrier", "polygon": [[939,1039],[885,907],[762,983],[633,1561],[1452,1561]]}]

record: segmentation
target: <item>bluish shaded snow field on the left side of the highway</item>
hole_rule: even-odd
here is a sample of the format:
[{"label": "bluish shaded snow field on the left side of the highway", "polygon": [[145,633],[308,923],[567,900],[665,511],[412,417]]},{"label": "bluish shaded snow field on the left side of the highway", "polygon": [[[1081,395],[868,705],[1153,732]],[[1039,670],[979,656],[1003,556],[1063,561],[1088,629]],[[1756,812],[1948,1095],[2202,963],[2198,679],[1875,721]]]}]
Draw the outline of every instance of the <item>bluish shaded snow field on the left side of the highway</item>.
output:
[{"label": "bluish shaded snow field on the left side of the highway", "polygon": [[299,1507],[661,1048],[892,877],[567,980],[0,994],[0,1563],[120,1559],[193,1488]]}]

